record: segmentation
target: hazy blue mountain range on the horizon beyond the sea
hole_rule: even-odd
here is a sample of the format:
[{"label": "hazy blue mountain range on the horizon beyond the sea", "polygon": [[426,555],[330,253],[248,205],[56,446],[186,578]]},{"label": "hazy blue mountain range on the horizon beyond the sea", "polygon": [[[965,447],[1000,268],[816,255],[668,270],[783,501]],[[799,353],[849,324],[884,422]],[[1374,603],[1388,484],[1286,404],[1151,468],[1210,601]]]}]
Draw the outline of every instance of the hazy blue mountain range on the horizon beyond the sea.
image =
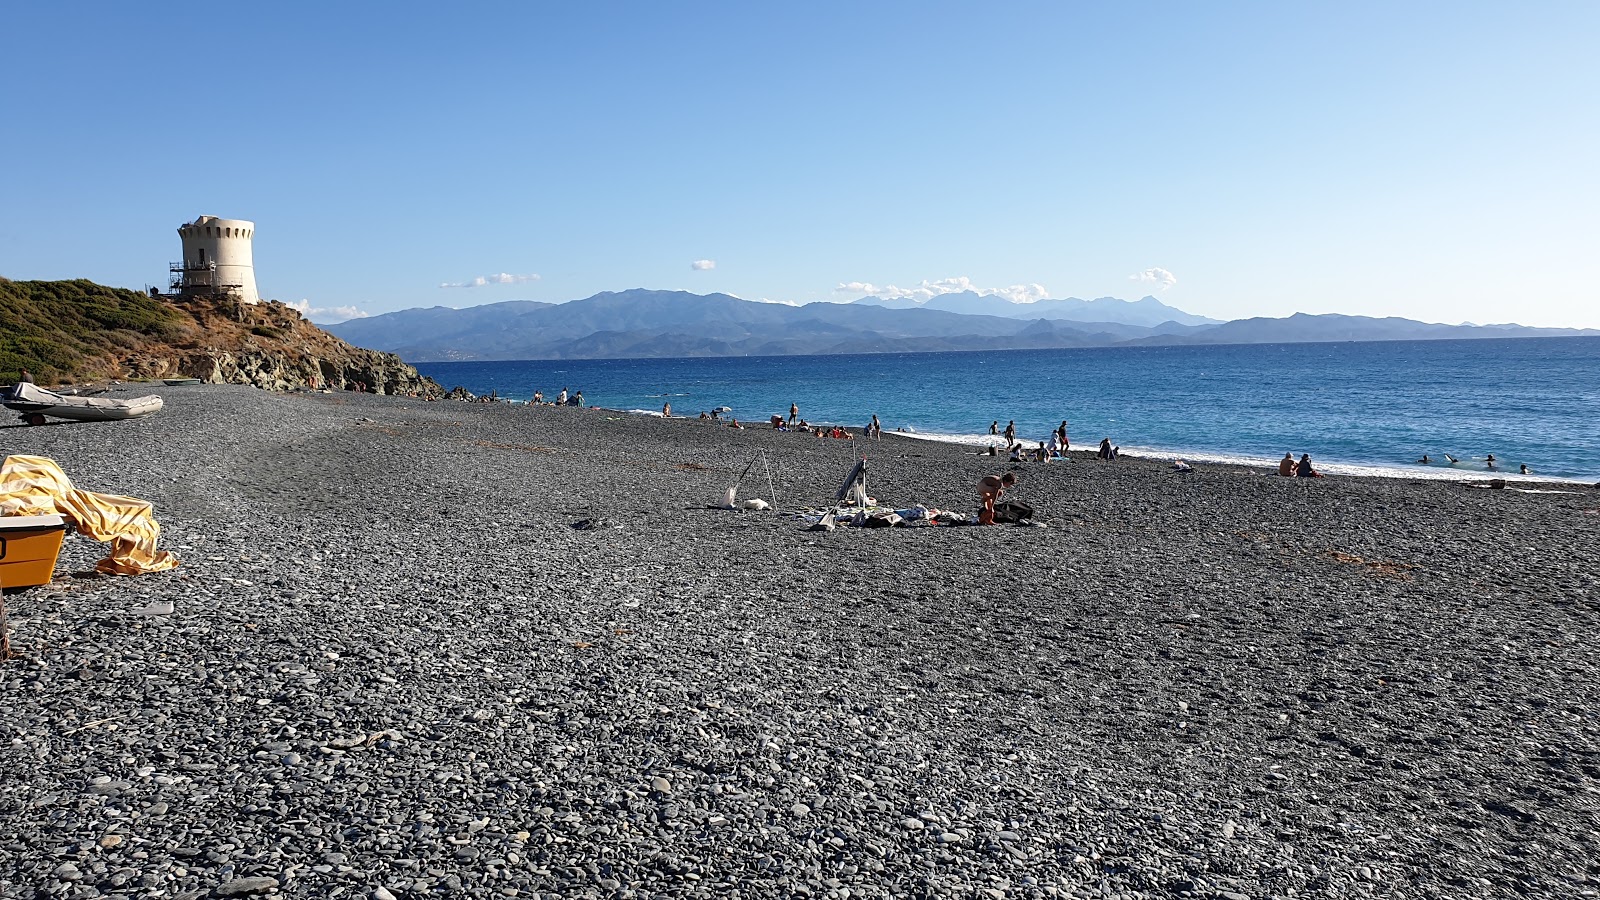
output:
[{"label": "hazy blue mountain range on the horizon beyond the sea", "polygon": [[1152,296],[1013,303],[968,291],[926,303],[862,298],[784,306],[725,293],[643,288],[560,304],[510,301],[469,309],[402,309],[325,328],[352,344],[397,352],[406,362],[1600,335],[1600,330],[1429,325],[1365,315],[1218,322]]}]

